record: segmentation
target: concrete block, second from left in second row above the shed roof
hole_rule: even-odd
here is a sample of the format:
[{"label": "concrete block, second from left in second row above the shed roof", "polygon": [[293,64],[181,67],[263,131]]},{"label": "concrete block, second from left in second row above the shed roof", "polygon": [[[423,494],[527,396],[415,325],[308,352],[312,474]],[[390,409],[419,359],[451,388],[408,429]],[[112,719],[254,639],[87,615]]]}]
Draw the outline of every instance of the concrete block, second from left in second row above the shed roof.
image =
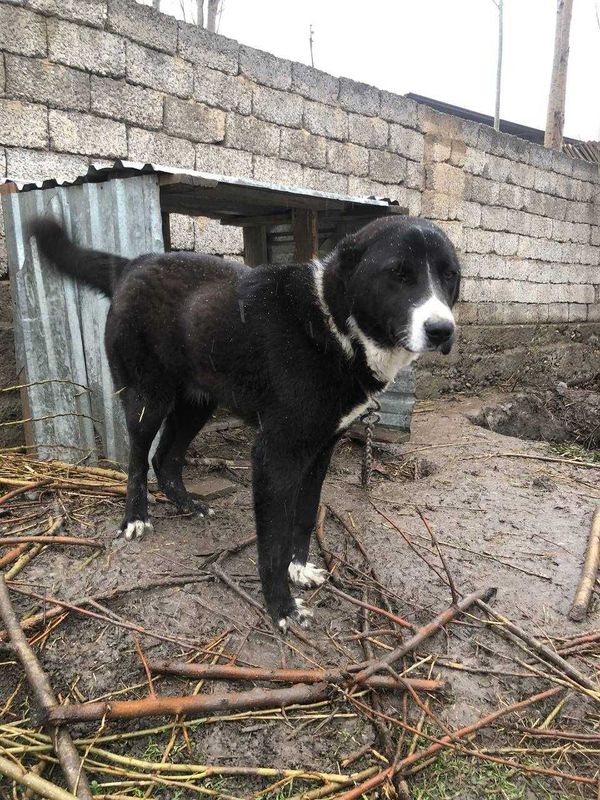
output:
[{"label": "concrete block, second from left in second row above the shed roof", "polygon": [[107,158],[127,157],[127,133],[122,122],[51,109],[49,124],[53,150]]}]

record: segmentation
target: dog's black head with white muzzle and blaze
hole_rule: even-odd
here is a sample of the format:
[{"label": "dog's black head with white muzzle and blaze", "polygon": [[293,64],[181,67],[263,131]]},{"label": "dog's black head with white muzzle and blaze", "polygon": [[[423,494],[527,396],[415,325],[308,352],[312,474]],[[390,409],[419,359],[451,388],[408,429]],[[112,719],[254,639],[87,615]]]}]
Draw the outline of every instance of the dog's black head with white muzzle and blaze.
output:
[{"label": "dog's black head with white muzzle and blaze", "polygon": [[460,265],[437,225],[411,217],[370,222],[333,258],[353,324],[381,347],[449,353]]}]

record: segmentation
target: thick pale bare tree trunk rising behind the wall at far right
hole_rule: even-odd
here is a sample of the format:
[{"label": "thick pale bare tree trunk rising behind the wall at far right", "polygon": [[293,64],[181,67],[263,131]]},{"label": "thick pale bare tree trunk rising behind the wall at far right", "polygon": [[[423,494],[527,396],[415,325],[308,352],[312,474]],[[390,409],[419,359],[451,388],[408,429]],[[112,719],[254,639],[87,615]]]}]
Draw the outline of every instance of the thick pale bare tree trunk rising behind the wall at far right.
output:
[{"label": "thick pale bare tree trunk rising behind the wall at far right", "polygon": [[548,98],[546,135],[544,146],[553,150],[562,148],[565,124],[565,96],[567,93],[567,65],[569,61],[569,31],[573,0],[558,0],[556,9],[556,33],[554,36],[554,61]]}]

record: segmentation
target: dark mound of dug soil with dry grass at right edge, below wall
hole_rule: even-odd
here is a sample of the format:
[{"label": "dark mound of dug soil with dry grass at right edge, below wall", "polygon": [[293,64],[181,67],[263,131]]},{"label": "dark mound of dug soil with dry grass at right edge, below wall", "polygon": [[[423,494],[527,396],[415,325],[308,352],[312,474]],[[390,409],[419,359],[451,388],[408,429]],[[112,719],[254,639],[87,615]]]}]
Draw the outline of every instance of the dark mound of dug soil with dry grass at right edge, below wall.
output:
[{"label": "dark mound of dug soil with dry grass at right edge, below wall", "polygon": [[484,406],[473,422],[519,439],[573,442],[587,450],[600,448],[600,393],[569,389],[523,392],[496,405]]}]

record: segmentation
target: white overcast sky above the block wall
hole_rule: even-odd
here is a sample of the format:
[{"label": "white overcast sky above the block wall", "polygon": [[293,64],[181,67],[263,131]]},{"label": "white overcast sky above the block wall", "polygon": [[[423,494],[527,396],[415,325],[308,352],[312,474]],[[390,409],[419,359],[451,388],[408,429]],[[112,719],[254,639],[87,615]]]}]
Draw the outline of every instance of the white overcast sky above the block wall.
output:
[{"label": "white overcast sky above the block wall", "polygon": [[[181,17],[181,3],[162,0],[161,7]],[[556,0],[504,0],[504,7],[501,116],[544,128]],[[600,139],[597,14],[600,0],[574,0],[565,135],[579,139]],[[309,64],[311,24],[319,69],[494,113],[492,0],[224,0],[219,32]]]}]

